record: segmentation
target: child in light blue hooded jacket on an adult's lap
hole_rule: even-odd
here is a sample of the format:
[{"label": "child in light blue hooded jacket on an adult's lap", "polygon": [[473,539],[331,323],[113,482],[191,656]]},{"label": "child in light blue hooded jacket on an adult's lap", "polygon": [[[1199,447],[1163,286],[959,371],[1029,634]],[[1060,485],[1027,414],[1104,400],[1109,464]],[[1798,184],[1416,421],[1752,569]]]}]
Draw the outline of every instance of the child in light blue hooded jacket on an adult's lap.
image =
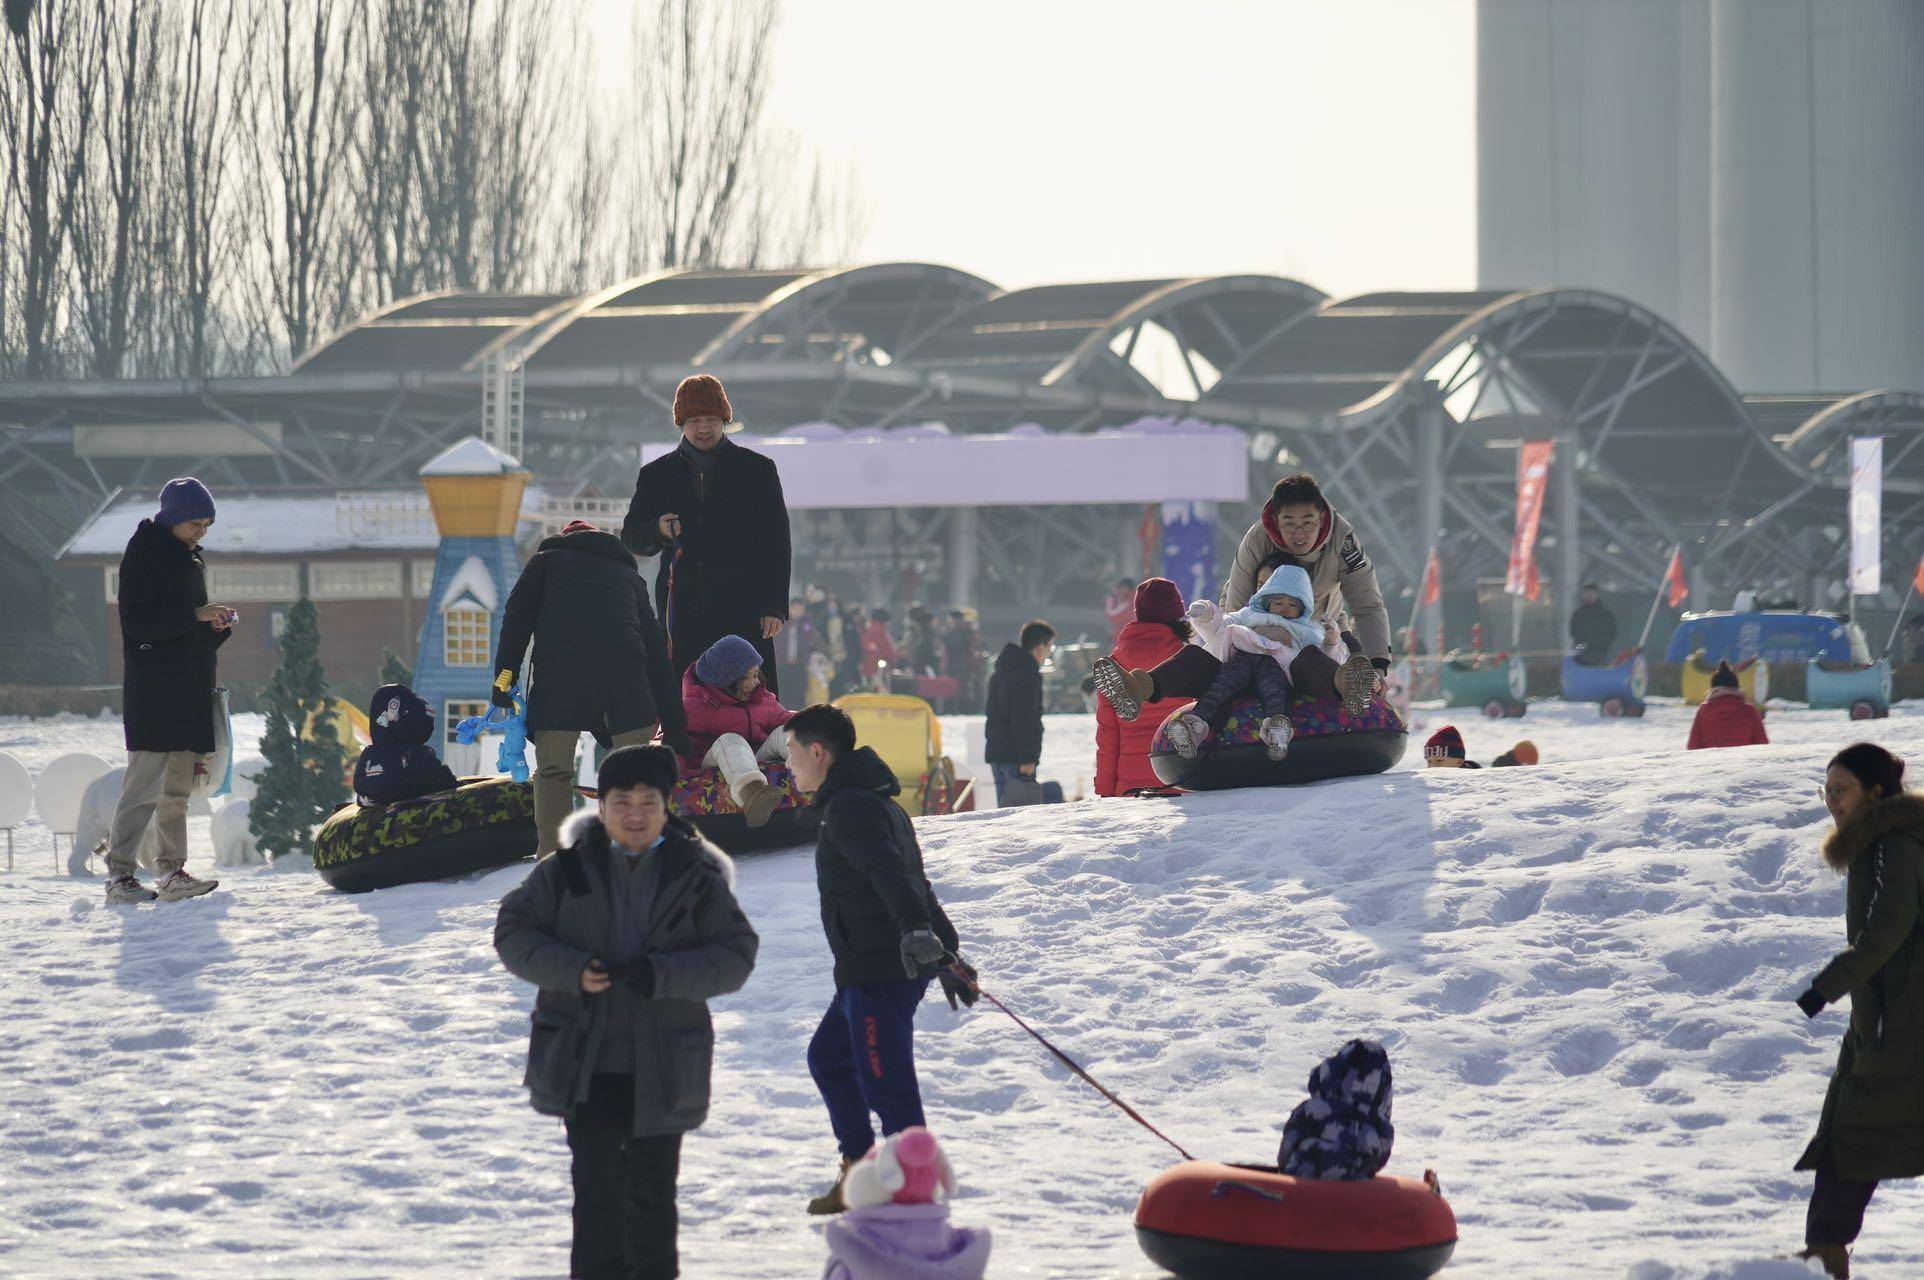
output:
[{"label": "child in light blue hooded jacket on an adult's lap", "polygon": [[[1222,624],[1249,627],[1264,641],[1285,645],[1287,654],[1295,654],[1335,639],[1333,627],[1310,618],[1314,608],[1316,595],[1310,591],[1310,576],[1301,566],[1285,564],[1256,587],[1247,608],[1228,614]],[[1293,735],[1289,670],[1276,653],[1249,653],[1235,645],[1229,645],[1222,670],[1216,672],[1216,679],[1197,699],[1197,704],[1162,730],[1176,753],[1193,758],[1210,733],[1222,731],[1229,703],[1243,697],[1251,685],[1254,685],[1256,701],[1262,704],[1262,728],[1258,730],[1262,745],[1272,760],[1285,758]]]}]

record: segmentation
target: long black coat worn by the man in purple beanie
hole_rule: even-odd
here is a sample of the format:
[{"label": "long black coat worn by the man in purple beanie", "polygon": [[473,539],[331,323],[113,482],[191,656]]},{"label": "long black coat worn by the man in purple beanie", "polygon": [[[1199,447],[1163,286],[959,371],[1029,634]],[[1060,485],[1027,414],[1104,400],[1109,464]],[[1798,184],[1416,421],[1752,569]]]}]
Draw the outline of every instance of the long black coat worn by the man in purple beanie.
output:
[{"label": "long black coat worn by the man in purple beanie", "polygon": [[229,633],[194,618],[206,602],[200,550],[142,520],[119,577],[127,751],[214,751],[214,654]]}]

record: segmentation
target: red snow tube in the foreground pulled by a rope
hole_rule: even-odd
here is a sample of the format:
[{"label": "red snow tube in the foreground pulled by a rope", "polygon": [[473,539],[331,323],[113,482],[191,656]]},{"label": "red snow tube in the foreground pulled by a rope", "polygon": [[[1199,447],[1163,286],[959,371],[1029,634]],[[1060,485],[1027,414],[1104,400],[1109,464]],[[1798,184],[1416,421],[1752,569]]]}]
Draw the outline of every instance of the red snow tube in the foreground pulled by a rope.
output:
[{"label": "red snow tube in the foreground pulled by a rope", "polygon": [[1135,1238],[1185,1280],[1420,1280],[1456,1249],[1456,1215],[1416,1178],[1320,1182],[1189,1161],[1143,1190]]}]

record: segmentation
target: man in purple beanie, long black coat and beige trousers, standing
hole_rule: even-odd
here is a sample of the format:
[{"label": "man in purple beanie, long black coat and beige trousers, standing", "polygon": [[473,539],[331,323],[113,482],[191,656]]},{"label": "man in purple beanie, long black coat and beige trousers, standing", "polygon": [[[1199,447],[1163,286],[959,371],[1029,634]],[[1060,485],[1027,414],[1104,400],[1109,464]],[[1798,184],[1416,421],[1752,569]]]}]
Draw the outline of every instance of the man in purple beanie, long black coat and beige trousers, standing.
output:
[{"label": "man in purple beanie, long black coat and beige trousers, standing", "polygon": [[[212,755],[215,653],[239,612],[208,601],[200,541],[214,495],[187,475],[160,491],[160,512],[127,539],[119,570],[121,689],[127,778],[108,835],[108,903],[179,901],[215,887],[187,874],[187,801]],[[140,837],[154,828],[148,889],[137,878]]]}]

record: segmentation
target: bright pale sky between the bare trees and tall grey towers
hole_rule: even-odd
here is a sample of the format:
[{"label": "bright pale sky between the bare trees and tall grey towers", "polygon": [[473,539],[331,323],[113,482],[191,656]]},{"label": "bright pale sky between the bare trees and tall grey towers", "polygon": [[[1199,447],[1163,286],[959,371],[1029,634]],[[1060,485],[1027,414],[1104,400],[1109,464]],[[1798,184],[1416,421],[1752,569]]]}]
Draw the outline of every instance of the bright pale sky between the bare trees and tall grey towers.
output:
[{"label": "bright pale sky between the bare trees and tall grey towers", "polygon": [[864,262],[1476,283],[1474,0],[787,0],[770,117],[860,175]]}]

